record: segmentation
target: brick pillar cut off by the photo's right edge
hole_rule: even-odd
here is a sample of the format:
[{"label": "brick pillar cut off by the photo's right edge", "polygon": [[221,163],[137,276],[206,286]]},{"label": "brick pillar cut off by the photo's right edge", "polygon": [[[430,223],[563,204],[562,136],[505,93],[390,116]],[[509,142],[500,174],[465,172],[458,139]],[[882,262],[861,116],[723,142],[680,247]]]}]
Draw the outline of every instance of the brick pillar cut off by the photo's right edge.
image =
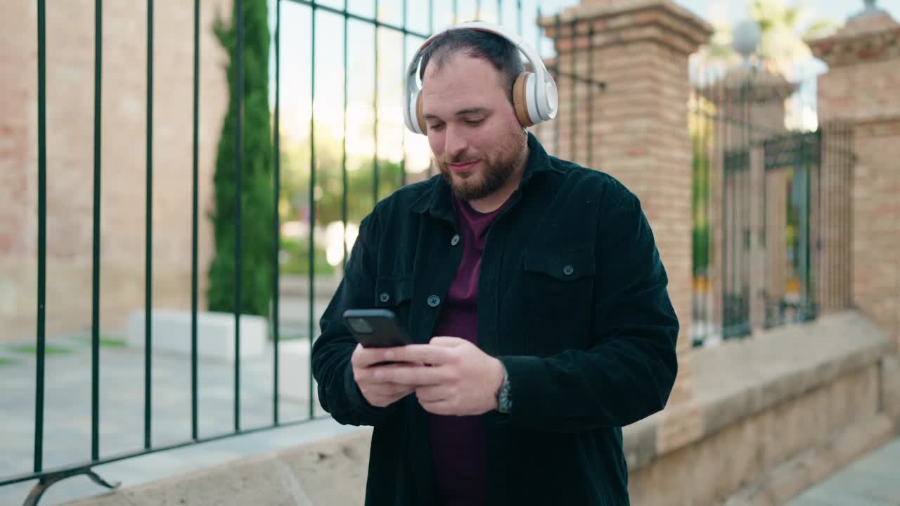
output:
[{"label": "brick pillar cut off by the photo's right edge", "polygon": [[900,344],[900,24],[867,11],[809,43],[830,68],[819,77],[820,116],[850,122],[853,133],[856,165],[842,183],[853,302]]}]

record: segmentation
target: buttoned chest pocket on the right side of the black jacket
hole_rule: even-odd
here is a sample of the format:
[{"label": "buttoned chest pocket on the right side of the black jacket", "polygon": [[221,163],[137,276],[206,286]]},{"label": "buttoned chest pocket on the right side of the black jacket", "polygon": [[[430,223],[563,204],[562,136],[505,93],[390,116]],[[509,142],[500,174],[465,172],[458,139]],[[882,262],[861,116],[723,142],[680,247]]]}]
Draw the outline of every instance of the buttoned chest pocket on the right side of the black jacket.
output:
[{"label": "buttoned chest pocket on the right side of the black jacket", "polygon": [[593,244],[526,251],[521,317],[533,329],[527,330],[525,339],[529,354],[545,356],[590,346],[595,257]]}]

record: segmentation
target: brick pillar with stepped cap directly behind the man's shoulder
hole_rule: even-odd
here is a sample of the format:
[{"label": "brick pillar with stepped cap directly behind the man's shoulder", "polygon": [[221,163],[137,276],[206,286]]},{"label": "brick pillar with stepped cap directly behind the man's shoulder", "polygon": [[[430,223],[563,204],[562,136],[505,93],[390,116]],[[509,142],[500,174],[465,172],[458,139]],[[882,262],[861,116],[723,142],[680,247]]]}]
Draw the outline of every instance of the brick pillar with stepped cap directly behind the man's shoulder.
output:
[{"label": "brick pillar with stepped cap directly behind the man's shoulder", "polygon": [[[590,167],[616,177],[641,199],[681,323],[679,379],[670,404],[687,402],[692,295],[688,57],[707,41],[712,27],[671,0],[582,2],[564,10],[558,25],[553,17],[538,23],[555,42],[560,71],[585,75],[590,69],[593,78],[607,84],[592,101],[590,129],[581,126],[588,104],[572,100],[571,86],[560,87],[556,151],[565,158],[572,153],[583,163],[581,146],[592,146]],[[573,114],[581,125],[572,125]]]}]

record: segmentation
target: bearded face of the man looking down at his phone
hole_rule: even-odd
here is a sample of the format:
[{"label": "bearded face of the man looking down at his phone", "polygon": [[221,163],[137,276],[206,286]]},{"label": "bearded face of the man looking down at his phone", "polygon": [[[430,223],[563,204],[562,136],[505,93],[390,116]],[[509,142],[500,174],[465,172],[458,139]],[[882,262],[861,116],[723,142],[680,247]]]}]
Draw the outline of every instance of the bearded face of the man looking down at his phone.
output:
[{"label": "bearded face of the man looking down at his phone", "polygon": [[527,137],[509,104],[499,71],[464,51],[422,78],[422,113],[428,144],[441,174],[464,200],[499,190],[515,172]]}]

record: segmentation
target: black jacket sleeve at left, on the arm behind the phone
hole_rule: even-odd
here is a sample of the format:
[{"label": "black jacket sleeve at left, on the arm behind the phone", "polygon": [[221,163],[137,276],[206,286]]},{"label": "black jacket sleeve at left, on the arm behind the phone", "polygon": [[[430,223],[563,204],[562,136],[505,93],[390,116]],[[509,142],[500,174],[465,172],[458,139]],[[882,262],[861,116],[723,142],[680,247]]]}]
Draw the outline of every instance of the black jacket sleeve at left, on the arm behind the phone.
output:
[{"label": "black jacket sleeve at left, on the arm behind the phone", "polygon": [[312,347],[312,375],[319,384],[319,402],[322,409],[344,425],[375,425],[397,405],[395,402],[386,408],[374,407],[359,391],[350,365],[356,339],[343,321],[345,310],[372,305],[377,237],[374,214],[370,214],[360,223],[344,279],[322,315],[321,335]]}]

